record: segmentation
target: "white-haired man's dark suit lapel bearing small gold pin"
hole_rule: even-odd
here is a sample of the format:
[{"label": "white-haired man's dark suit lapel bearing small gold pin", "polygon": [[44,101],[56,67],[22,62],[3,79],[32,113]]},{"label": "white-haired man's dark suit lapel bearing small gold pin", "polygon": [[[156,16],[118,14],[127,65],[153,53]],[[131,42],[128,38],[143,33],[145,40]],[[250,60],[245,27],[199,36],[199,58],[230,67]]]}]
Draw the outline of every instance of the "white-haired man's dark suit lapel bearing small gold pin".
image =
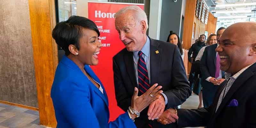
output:
[{"label": "white-haired man's dark suit lapel bearing small gold pin", "polygon": [[[150,84],[157,83],[161,65],[162,49],[158,48],[159,43],[150,39]],[[158,52],[157,52],[158,51]]]}]

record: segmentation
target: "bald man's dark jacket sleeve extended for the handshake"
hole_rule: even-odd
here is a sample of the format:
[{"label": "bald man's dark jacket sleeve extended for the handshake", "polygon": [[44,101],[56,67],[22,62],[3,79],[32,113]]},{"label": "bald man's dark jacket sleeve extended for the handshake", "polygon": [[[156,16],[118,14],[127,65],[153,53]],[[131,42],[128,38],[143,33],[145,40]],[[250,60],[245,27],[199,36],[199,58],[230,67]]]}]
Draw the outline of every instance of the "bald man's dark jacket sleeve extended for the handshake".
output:
[{"label": "bald man's dark jacket sleeve extended for the handshake", "polygon": [[178,127],[206,126],[211,116],[212,106],[198,109],[177,109],[179,120]]}]

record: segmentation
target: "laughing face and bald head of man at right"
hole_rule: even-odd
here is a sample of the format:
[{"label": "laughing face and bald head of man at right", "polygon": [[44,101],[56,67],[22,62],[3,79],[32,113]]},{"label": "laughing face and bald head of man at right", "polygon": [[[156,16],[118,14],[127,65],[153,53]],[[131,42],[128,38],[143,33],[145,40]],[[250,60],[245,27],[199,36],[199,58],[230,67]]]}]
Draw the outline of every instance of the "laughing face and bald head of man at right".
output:
[{"label": "laughing face and bald head of man at right", "polygon": [[[228,73],[236,73],[255,62],[256,34],[250,23],[236,23],[228,27],[220,37],[220,45],[215,49],[220,55],[220,69]],[[256,29],[256,25],[254,26]],[[243,37],[243,38],[241,38]]]}]

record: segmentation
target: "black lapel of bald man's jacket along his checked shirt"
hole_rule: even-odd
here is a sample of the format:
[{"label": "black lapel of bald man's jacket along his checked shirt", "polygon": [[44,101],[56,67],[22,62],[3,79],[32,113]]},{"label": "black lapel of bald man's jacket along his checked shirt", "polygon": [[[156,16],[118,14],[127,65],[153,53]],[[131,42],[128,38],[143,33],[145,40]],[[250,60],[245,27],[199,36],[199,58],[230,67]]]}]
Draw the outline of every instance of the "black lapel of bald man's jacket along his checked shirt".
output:
[{"label": "black lapel of bald man's jacket along his checked shirt", "polygon": [[[235,82],[232,84],[232,86],[230,87],[230,89],[228,90],[228,93],[225,95],[224,99],[221,101],[220,106],[217,110],[217,112],[214,114],[214,117],[212,118],[212,120],[215,120],[215,118],[220,114],[220,111],[226,106],[227,102],[230,100],[230,98],[233,96],[233,94],[236,92],[236,90],[243,85],[243,83],[250,78],[253,75],[253,72],[250,70],[251,68],[255,67],[255,64],[253,64],[251,67],[249,67],[248,69],[246,69],[240,76],[237,77],[237,79],[235,80]],[[224,87],[222,87],[224,88]],[[222,89],[223,90],[223,89]],[[222,92],[222,91],[221,91]],[[219,93],[221,93],[219,92]],[[220,96],[219,96],[220,97]],[[218,97],[218,100],[219,100]],[[218,101],[217,101],[218,102]],[[217,106],[217,105],[216,105]],[[216,108],[215,108],[216,111]],[[214,111],[214,112],[215,112]]]}]

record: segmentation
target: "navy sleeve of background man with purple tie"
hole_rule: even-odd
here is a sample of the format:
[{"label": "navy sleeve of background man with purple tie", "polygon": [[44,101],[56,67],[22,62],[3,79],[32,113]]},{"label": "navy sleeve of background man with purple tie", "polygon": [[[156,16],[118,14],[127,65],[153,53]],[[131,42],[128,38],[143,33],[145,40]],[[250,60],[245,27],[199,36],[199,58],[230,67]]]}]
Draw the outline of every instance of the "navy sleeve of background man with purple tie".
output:
[{"label": "navy sleeve of background man with purple tie", "polygon": [[203,80],[205,80],[206,78],[210,77],[210,73],[208,71],[208,68],[207,68],[207,53],[208,53],[209,49],[206,47],[205,50],[204,50],[204,54],[202,56],[202,59],[200,61],[200,70],[201,70],[201,73],[202,73],[202,76],[203,76]]}]

